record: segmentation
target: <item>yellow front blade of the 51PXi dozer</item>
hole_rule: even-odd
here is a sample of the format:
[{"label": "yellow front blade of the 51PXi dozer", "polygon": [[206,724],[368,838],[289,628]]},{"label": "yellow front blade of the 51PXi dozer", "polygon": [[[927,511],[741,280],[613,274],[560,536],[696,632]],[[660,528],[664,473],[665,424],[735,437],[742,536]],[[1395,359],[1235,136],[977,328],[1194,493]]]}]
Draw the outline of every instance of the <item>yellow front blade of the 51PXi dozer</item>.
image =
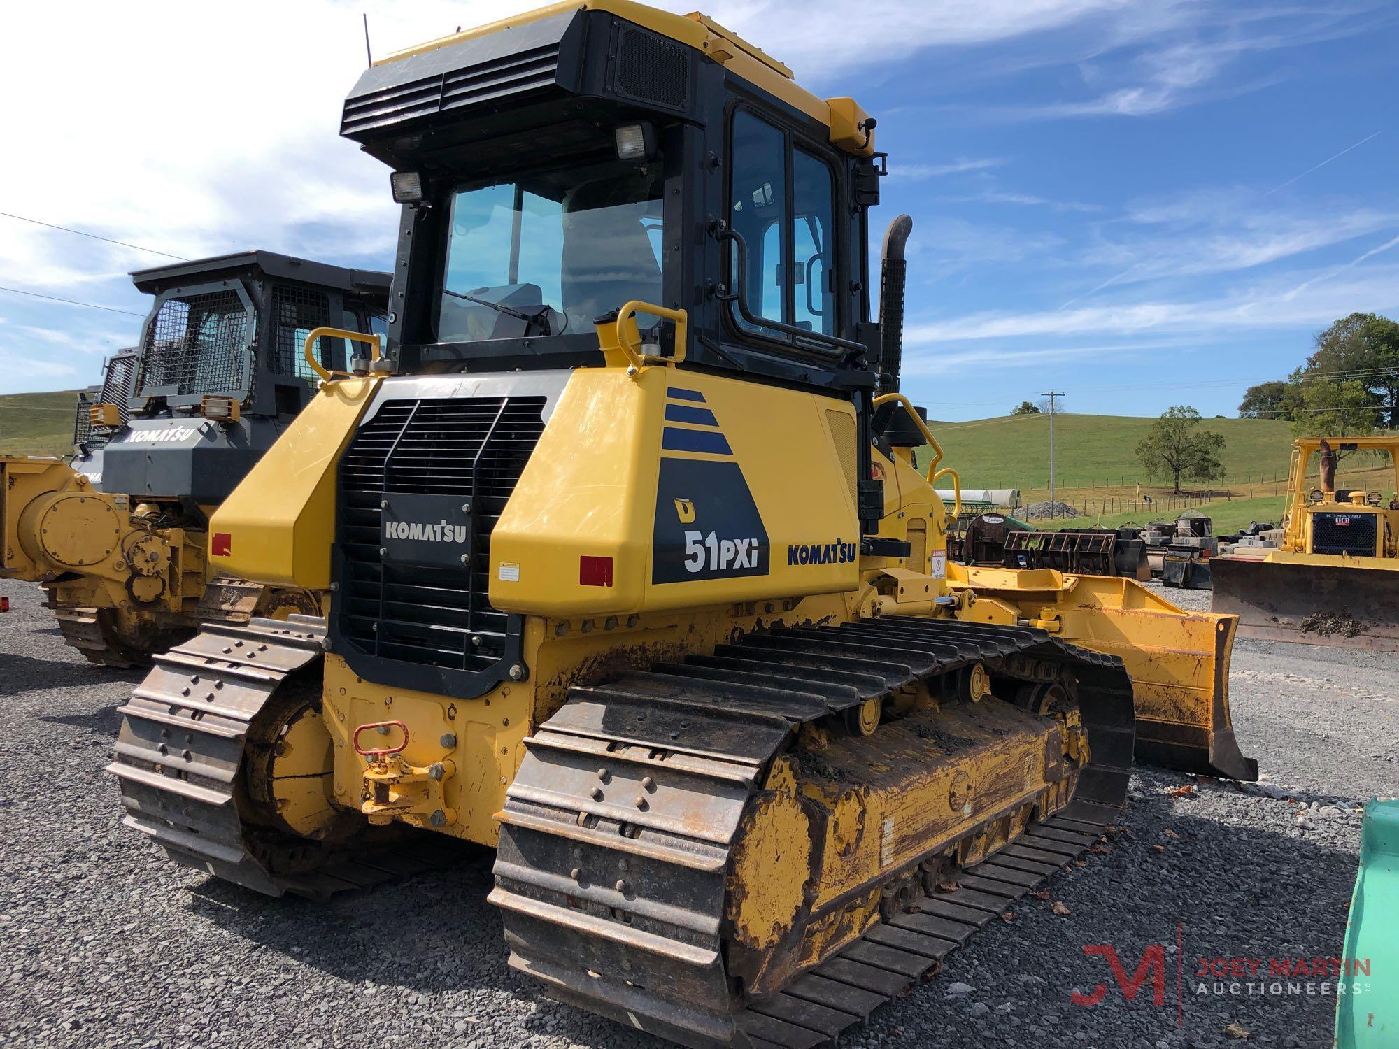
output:
[{"label": "yellow front blade of the 51PXi dozer", "polygon": [[1235,617],[1184,611],[1132,579],[949,566],[950,578],[961,572],[977,600],[958,618],[1051,617],[1063,641],[1122,659],[1132,676],[1137,761],[1258,779],[1228,709]]}]

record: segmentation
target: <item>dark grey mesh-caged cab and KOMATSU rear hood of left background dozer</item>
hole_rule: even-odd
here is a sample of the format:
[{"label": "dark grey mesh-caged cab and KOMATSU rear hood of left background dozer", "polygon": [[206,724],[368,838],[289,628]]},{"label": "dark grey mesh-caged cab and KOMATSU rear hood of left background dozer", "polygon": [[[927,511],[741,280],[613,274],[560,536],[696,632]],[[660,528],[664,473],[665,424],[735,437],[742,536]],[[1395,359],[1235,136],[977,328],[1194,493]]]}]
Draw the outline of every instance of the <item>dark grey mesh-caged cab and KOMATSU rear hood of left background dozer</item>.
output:
[{"label": "dark grey mesh-caged cab and KOMATSU rear hood of left background dozer", "polygon": [[[78,403],[73,466],[102,491],[211,506],[305,406],[302,354],[316,327],[383,331],[389,274],[241,252],[139,270],[154,295],[141,343],[108,361],[98,401]],[[346,366],[340,338],[319,340]]]}]

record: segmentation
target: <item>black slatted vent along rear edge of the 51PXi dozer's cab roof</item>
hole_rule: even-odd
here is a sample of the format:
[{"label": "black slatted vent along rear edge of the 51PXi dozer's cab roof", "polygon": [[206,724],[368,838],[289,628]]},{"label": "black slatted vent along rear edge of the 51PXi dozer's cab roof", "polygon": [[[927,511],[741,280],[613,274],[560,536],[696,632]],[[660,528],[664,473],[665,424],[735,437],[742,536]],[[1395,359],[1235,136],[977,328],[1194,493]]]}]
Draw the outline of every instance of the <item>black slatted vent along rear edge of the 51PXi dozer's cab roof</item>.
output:
[{"label": "black slatted vent along rear edge of the 51PXi dozer's cab roof", "polygon": [[354,137],[446,109],[488,102],[533,88],[553,87],[558,45],[533,48],[453,73],[424,77],[346,101],[340,134]]}]

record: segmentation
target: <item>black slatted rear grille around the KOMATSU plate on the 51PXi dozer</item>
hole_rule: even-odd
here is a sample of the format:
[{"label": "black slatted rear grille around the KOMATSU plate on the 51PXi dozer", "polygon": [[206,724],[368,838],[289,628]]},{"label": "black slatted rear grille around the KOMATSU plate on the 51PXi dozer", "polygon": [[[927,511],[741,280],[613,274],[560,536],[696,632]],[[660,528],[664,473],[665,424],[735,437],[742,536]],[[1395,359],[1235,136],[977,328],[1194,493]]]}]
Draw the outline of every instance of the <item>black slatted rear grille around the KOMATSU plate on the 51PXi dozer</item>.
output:
[{"label": "black slatted rear grille around the KOMATSU plate on the 51PXi dozer", "polygon": [[[340,463],[337,632],[365,656],[481,673],[506,657],[509,617],[487,599],[490,538],[539,442],[543,397],[399,400],[362,425]],[[471,504],[460,569],[379,555],[386,492]],[[516,638],[518,643],[518,638]]]}]

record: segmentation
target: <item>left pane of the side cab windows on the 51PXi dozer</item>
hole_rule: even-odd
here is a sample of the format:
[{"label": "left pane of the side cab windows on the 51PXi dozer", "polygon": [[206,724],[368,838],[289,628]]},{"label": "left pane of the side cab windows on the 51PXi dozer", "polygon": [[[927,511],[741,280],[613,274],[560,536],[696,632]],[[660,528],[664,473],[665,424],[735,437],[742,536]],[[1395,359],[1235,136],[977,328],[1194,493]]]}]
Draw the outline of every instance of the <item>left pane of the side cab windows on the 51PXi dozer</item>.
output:
[{"label": "left pane of the side cab windows on the 51PXi dozer", "polygon": [[[748,312],[782,322],[782,284],[788,271],[786,238],[786,136],[747,110],[733,117],[733,172],[729,225],[748,246],[747,283],[734,287]],[[739,246],[730,257],[733,281],[739,281]],[[761,326],[747,324],[762,331]]]}]

